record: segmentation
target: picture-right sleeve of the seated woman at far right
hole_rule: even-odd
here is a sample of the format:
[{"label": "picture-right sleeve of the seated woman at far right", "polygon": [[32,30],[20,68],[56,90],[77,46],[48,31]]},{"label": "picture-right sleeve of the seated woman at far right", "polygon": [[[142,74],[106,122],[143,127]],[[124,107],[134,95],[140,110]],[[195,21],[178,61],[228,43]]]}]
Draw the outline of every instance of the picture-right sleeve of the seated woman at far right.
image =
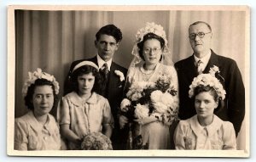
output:
[{"label": "picture-right sleeve of the seated woman at far right", "polygon": [[236,132],[232,123],[225,121],[223,131],[224,149],[236,149]]}]

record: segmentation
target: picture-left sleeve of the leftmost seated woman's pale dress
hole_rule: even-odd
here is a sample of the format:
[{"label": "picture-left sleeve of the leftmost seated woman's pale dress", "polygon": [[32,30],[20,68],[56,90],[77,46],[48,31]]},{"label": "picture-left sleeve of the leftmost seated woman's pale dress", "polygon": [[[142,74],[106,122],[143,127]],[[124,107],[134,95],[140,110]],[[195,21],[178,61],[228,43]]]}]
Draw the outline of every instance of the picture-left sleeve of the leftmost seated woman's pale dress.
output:
[{"label": "picture-left sleeve of the leftmost seated woman's pale dress", "polygon": [[28,129],[25,121],[15,120],[15,150],[27,150]]}]

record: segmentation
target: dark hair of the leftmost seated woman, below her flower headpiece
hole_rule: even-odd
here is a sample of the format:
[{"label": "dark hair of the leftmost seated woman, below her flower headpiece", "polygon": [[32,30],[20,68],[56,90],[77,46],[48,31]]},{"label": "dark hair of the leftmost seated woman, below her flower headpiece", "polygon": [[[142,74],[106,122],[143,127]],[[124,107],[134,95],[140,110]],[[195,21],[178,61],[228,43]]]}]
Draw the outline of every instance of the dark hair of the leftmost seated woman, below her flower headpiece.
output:
[{"label": "dark hair of the leftmost seated woman, below her flower headpiece", "polygon": [[34,105],[32,103],[32,97],[36,87],[41,87],[41,86],[50,86],[52,88],[53,95],[54,95],[53,108],[55,107],[55,104],[57,103],[57,100],[58,100],[57,95],[55,94],[55,86],[51,81],[48,81],[46,79],[37,79],[34,84],[32,84],[30,87],[27,88],[26,96],[24,98],[27,109],[32,109],[32,110],[34,109]]}]

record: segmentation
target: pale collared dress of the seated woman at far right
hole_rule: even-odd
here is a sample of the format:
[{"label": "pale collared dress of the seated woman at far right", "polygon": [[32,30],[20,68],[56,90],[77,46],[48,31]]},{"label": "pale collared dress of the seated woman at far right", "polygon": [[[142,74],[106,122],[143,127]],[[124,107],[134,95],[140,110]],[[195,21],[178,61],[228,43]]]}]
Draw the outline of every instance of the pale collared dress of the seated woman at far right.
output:
[{"label": "pale collared dress of the seated woman at far right", "polygon": [[179,122],[174,142],[176,149],[236,149],[236,133],[232,123],[216,115],[209,126],[201,126],[195,115]]}]

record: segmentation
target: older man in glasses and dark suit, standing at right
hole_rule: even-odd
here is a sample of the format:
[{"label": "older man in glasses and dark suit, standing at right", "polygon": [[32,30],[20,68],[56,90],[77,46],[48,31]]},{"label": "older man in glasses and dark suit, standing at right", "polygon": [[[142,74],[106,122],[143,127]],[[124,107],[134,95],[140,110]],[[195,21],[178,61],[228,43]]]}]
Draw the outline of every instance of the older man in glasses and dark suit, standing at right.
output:
[{"label": "older man in glasses and dark suit, standing at right", "polygon": [[195,115],[194,100],[189,98],[189,85],[196,75],[209,73],[210,68],[218,66],[216,74],[222,83],[226,98],[219,102],[215,115],[222,120],[233,123],[236,137],[241,129],[241,122],[245,115],[245,89],[241,72],[233,59],[217,55],[211,49],[212,28],[206,22],[197,21],[189,25],[189,42],[194,51],[187,59],[175,64],[179,83],[179,117],[186,120]]}]

